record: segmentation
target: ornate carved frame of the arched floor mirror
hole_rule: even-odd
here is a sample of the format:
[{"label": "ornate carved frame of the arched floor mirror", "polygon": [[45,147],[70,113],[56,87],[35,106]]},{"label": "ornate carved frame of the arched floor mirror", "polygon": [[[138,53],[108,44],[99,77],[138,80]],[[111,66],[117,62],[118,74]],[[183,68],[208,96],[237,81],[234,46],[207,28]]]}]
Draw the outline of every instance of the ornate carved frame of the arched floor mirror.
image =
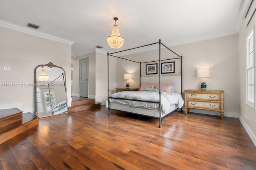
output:
[{"label": "ornate carved frame of the arched floor mirror", "polygon": [[68,97],[67,97],[67,86],[66,86],[66,72],[65,72],[64,68],[62,68],[62,67],[60,67],[60,66],[57,66],[57,65],[54,65],[52,62],[50,62],[50,63],[48,63],[48,64],[41,64],[41,65],[38,65],[38,66],[36,66],[36,68],[34,69],[34,101],[35,101],[35,103],[34,103],[34,106],[35,106],[35,108],[34,108],[34,114],[35,114],[37,117],[39,117],[39,116],[38,116],[37,91],[36,91],[36,90],[37,90],[37,86],[36,86],[36,84],[37,84],[36,69],[37,69],[38,67],[42,67],[42,66],[48,66],[48,67],[50,67],[50,68],[56,67],[56,68],[60,68],[60,69],[62,69],[62,70],[64,71],[64,79],[65,79],[64,87],[65,87],[66,101],[67,101],[67,111],[68,111],[67,113],[69,113]]}]

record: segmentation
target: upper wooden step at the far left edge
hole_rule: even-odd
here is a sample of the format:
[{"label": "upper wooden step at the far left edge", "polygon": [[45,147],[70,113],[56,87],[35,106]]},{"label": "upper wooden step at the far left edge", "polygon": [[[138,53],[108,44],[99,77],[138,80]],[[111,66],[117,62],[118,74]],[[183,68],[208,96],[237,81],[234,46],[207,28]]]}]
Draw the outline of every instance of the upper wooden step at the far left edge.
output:
[{"label": "upper wooden step at the far left edge", "polygon": [[0,127],[22,121],[22,111],[18,108],[0,109]]}]

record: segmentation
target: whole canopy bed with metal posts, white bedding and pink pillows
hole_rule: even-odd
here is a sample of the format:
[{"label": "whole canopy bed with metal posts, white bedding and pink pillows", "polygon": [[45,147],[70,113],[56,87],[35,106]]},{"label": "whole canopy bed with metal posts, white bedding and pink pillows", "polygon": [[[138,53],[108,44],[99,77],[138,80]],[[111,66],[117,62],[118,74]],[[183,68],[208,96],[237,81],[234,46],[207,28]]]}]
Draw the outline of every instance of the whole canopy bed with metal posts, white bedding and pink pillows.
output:
[{"label": "whole canopy bed with metal posts, white bedding and pink pillows", "polygon": [[[159,44],[159,59],[157,61],[137,62],[122,57],[117,57],[113,54],[138,49],[154,44]],[[172,52],[177,57],[170,59],[161,59],[161,45]],[[109,85],[109,56],[117,57],[119,59],[128,60],[134,63],[140,64],[140,91],[123,91],[110,95]],[[180,59],[180,75],[175,76],[161,76],[162,71],[158,76],[144,76],[141,75],[142,64],[158,62],[161,66],[163,61],[173,61]],[[173,62],[174,64],[174,62]],[[150,64],[148,64],[150,65]],[[156,64],[157,65],[157,64]],[[147,69],[147,66],[146,66]],[[148,68],[150,71],[151,68]],[[160,68],[161,70],[162,68]],[[170,70],[170,69],[169,69]],[[166,73],[168,71],[166,69]],[[173,70],[174,71],[174,70]],[[147,70],[146,70],[147,72]],[[169,71],[170,72],[170,71]],[[157,74],[157,68],[156,73]],[[164,82],[164,85],[162,83]],[[167,86],[168,85],[168,86]],[[174,93],[175,92],[175,93]],[[110,115],[110,109],[126,111],[129,113],[135,113],[139,115],[145,115],[149,117],[159,118],[159,127],[162,127],[162,118],[168,116],[170,113],[182,108],[184,101],[182,99],[182,56],[179,56],[174,51],[162,44],[161,40],[157,43],[143,45],[132,49],[118,51],[115,53],[108,53],[108,99],[106,101],[106,107],[108,108],[108,115]]]}]

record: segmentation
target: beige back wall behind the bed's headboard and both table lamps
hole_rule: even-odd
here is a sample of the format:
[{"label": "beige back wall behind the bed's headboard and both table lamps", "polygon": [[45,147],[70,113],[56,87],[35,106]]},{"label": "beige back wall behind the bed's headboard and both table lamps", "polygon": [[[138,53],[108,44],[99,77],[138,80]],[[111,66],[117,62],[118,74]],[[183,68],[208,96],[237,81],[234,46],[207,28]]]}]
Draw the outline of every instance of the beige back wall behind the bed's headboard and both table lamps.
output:
[{"label": "beige back wall behind the bed's headboard and both table lamps", "polygon": [[[164,41],[162,40],[162,43]],[[182,55],[182,79],[183,90],[200,89],[202,78],[196,77],[197,68],[210,68],[211,77],[205,78],[207,90],[224,90],[224,116],[238,117],[239,113],[239,81],[238,72],[238,35],[198,41],[170,47],[178,55]],[[130,60],[152,61],[158,59],[158,50],[147,51],[125,56]],[[161,51],[162,59],[175,57],[167,49]],[[123,62],[123,63],[122,63]],[[125,87],[124,73],[134,73],[134,80],[130,81],[130,87],[139,87],[139,64],[130,61],[117,60],[117,86]],[[138,65],[138,67],[137,67]],[[137,69],[136,69],[137,67]],[[179,61],[175,61],[175,74],[180,74]],[[159,68],[159,64],[158,64]],[[145,74],[145,66],[142,65],[142,76]],[[159,72],[159,70],[158,70]],[[156,75],[156,74],[154,74]],[[171,74],[167,74],[171,75]],[[148,76],[148,75],[147,75]],[[163,75],[164,76],[164,75]],[[218,111],[206,111],[190,109],[191,112],[220,115]]]}]

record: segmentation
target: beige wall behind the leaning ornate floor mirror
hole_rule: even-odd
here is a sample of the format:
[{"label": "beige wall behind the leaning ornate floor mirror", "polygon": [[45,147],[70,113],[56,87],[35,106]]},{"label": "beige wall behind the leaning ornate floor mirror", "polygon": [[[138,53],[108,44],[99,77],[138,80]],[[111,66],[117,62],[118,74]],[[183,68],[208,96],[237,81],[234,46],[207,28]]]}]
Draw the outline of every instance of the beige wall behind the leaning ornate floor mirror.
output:
[{"label": "beige wall behind the leaning ornate floor mirror", "polygon": [[[18,83],[18,87],[0,86],[0,109],[18,107],[34,112],[34,68],[52,62],[66,71],[68,103],[71,105],[71,45],[0,27],[0,84]],[[10,70],[4,70],[10,66]]]}]

